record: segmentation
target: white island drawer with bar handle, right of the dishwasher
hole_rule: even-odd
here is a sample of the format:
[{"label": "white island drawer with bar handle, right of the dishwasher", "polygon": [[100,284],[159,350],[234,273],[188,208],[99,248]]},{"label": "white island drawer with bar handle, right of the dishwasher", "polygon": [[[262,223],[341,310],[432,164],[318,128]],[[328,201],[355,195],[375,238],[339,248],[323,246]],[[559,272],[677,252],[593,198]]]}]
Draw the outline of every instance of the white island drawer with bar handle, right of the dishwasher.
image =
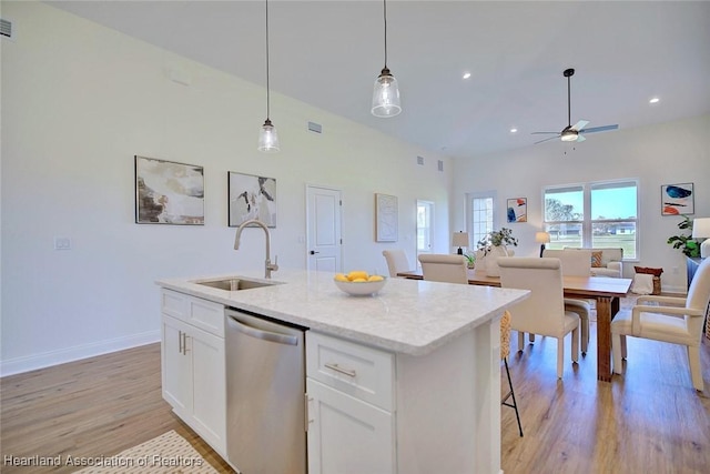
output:
[{"label": "white island drawer with bar handle, right of the dishwasher", "polygon": [[393,354],[306,332],[306,375],[381,409],[393,410]]}]

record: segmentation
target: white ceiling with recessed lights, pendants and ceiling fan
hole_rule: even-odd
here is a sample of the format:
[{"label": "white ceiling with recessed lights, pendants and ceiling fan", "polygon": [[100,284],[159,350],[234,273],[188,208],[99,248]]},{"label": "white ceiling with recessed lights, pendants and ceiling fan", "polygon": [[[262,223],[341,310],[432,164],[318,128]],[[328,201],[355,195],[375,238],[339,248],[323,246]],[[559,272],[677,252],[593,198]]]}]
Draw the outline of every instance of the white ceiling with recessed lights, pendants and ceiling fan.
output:
[{"label": "white ceiling with recessed lights, pendants and ceiling fan", "polygon": [[[50,3],[265,85],[264,1]],[[272,0],[268,10],[272,91],[453,157],[560,131],[567,68],[577,71],[572,123],[631,129],[710,113],[708,1],[389,0],[387,65],[403,105],[392,119],[369,113],[384,65],[383,2]],[[277,128],[278,107],[272,95]]]}]

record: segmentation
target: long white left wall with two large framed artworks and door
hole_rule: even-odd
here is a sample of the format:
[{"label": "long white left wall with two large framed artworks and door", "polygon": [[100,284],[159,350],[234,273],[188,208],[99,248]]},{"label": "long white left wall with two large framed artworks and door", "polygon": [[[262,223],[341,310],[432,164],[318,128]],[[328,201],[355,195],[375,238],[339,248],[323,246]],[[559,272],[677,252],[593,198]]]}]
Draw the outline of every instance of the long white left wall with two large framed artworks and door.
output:
[{"label": "long white left wall with two large framed artworks and door", "polygon": [[[384,272],[392,246],[414,260],[417,199],[435,202],[436,251],[450,251],[447,158],[277,93],[282,151],[261,154],[262,87],[44,3],[3,2],[2,16],[18,31],[1,41],[3,375],[159,340],[156,279],[261,269],[258,232],[232,250],[227,171],[277,180],[282,268],[305,266],[307,183],[343,190],[344,270]],[[204,226],[134,223],[135,154],[204,167]],[[374,241],[376,192],[399,199],[396,243]]]}]

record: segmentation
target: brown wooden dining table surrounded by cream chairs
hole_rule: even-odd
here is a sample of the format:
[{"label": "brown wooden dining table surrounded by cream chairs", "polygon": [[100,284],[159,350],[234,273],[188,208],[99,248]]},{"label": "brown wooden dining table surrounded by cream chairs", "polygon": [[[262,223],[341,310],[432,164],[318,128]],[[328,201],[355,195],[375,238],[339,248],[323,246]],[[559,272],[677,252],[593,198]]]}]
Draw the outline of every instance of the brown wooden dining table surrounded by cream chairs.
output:
[{"label": "brown wooden dining table surrounded by cream chairs", "polygon": [[[397,276],[424,280],[422,270],[398,272]],[[500,286],[500,276],[478,269],[468,270],[468,284]],[[595,300],[597,307],[597,380],[611,382],[611,320],[619,312],[620,299],[629,293],[631,279],[608,276],[562,276],[565,297]]]}]

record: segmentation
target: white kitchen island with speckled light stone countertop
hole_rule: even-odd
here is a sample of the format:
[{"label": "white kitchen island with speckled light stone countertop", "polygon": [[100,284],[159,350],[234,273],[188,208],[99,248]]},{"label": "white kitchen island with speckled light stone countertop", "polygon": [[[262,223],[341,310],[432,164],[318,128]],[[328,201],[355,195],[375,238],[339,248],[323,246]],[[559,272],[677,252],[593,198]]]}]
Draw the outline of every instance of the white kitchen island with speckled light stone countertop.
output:
[{"label": "white kitchen island with speckled light stone countertop", "polygon": [[[262,280],[255,278],[256,274],[240,275]],[[389,279],[377,295],[357,297],[341,292],[331,273],[284,270],[271,281],[278,284],[263,288],[229,291],[200,284],[234,276],[160,280],[163,346],[169,350],[171,345],[166,340],[170,331],[165,320],[172,321],[175,314],[190,311],[183,301],[194,303],[191,307],[200,307],[197,317],[193,319],[197,330],[212,326],[213,334],[207,335],[217,336],[212,344],[215,351],[203,351],[211,354],[216,365],[219,359],[224,357],[223,339],[222,347],[219,346],[220,332],[222,337],[224,334],[220,325],[224,322],[214,316],[211,323],[200,327],[206,321],[200,316],[204,309],[214,314],[225,307],[242,310],[307,329],[308,472],[333,472],[338,462],[347,463],[349,472],[364,472],[353,467],[353,463],[361,462],[362,468],[382,473],[499,473],[498,322],[507,307],[527,296],[527,291]],[[183,296],[186,300],[181,300]],[[197,354],[196,339],[189,333],[190,327],[180,327],[175,333],[179,340],[175,349],[186,353],[190,347]],[[210,389],[213,395],[210,410],[214,413],[195,415],[204,409],[197,406],[196,392],[192,406],[171,393],[166,375],[172,372],[174,377],[176,370],[165,364],[166,349],[163,351],[165,399],[183,420],[192,416],[195,423],[185,421],[193,427],[196,424],[197,433],[225,456],[230,440],[220,424],[220,417],[224,418],[224,382]],[[344,354],[345,362],[328,367],[327,362],[320,360],[323,354]],[[379,362],[363,363],[357,376],[354,370],[347,369],[348,362],[357,364],[371,355]],[[328,370],[333,366],[336,371]],[[375,386],[367,385],[367,371],[373,372]],[[213,372],[211,379],[224,379],[223,361]],[[361,376],[363,380],[357,380]],[[199,383],[206,382],[195,382]],[[356,413],[348,416],[372,412],[378,421],[368,424],[367,420],[361,420],[359,425],[367,425],[368,430],[359,433],[354,427],[352,433],[343,435],[338,426],[347,431],[354,425],[336,418],[328,418],[327,423],[321,420],[331,416],[326,413],[348,411],[329,406],[337,400],[354,406]],[[213,423],[205,422],[209,418]],[[363,437],[362,443],[354,443],[357,436]],[[347,441],[347,445],[338,444],[338,438]]]}]

